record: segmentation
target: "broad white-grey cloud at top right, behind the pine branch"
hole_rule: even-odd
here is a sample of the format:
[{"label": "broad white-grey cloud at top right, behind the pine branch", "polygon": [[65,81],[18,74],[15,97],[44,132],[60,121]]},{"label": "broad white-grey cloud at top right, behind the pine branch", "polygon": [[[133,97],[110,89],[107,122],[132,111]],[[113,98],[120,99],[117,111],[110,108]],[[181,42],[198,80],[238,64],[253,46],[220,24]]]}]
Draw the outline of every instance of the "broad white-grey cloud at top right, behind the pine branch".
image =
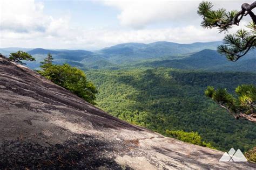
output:
[{"label": "broad white-grey cloud at top right, behind the pine branch", "polygon": [[[197,15],[199,0],[190,1],[166,1],[166,0],[129,0],[129,1],[109,1],[102,0],[105,5],[113,6],[120,10],[117,18],[123,26],[130,26],[134,29],[156,24],[159,22],[169,22],[171,25],[196,24],[200,17]],[[240,10],[244,0],[238,1],[214,1],[214,8],[225,8],[227,10]],[[254,2],[249,0],[248,3]]]}]

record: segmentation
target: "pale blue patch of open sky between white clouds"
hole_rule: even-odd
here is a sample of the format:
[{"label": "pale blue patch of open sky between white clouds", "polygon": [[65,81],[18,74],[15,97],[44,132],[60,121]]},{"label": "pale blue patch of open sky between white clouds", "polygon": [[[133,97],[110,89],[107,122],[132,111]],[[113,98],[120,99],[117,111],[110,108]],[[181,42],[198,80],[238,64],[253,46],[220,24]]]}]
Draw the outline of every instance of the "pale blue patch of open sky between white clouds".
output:
[{"label": "pale blue patch of open sky between white clouds", "polygon": [[[55,17],[70,15],[71,24],[84,27],[118,25],[119,10],[97,1],[37,1],[45,5],[44,13]],[[49,7],[49,8],[48,8]]]}]

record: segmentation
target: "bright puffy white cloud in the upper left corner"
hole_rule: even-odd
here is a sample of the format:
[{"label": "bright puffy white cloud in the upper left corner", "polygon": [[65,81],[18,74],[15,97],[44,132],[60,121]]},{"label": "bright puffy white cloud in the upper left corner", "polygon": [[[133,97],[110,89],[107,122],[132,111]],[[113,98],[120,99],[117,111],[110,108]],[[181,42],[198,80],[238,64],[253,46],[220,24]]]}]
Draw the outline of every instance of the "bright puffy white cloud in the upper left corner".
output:
[{"label": "bright puffy white cloud in the upper left corner", "polygon": [[69,17],[53,18],[43,13],[42,2],[33,0],[2,0],[0,2],[0,30],[14,33],[42,32],[49,35],[58,34],[68,27]]}]

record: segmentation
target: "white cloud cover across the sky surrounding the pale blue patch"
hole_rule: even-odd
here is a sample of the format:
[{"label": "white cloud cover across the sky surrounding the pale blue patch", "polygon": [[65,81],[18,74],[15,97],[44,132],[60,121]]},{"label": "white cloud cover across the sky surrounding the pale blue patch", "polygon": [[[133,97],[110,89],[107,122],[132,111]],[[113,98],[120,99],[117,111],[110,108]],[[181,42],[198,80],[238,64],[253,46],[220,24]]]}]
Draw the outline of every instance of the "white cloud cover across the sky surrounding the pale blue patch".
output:
[{"label": "white cloud cover across the sky surrounding the pale blue patch", "polygon": [[[125,42],[191,43],[217,41],[224,37],[224,34],[218,34],[215,29],[205,30],[200,27],[198,23],[200,17],[196,14],[198,1],[104,3],[120,9],[117,17],[124,27],[116,26],[112,29],[74,27],[70,16],[56,18],[44,13],[43,9],[46,7],[43,3],[32,0],[2,0],[0,2],[0,47],[99,49]],[[217,7],[218,4],[221,7],[220,2],[217,2]],[[240,5],[241,1],[235,4]],[[185,9],[181,10],[182,6],[185,6]],[[233,8],[232,6],[229,8]],[[177,18],[179,18],[179,24],[177,24]],[[197,20],[196,24],[195,20]],[[170,22],[173,26],[147,27],[158,22]]]}]

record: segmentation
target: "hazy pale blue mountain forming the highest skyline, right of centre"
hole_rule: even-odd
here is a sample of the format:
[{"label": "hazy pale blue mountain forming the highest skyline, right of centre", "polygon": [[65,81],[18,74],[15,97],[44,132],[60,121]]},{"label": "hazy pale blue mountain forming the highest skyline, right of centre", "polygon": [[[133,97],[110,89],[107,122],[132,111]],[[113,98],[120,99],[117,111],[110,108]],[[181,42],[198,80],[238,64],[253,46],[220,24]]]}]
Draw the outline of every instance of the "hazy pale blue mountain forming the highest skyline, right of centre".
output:
[{"label": "hazy pale blue mountain forming the highest skyline, right of centre", "polygon": [[198,52],[203,49],[216,49],[221,41],[195,42],[193,44],[178,44],[174,42],[159,41],[150,44],[125,43],[103,48],[98,54],[107,56],[116,63],[131,60],[152,59],[170,55],[180,55]]}]

